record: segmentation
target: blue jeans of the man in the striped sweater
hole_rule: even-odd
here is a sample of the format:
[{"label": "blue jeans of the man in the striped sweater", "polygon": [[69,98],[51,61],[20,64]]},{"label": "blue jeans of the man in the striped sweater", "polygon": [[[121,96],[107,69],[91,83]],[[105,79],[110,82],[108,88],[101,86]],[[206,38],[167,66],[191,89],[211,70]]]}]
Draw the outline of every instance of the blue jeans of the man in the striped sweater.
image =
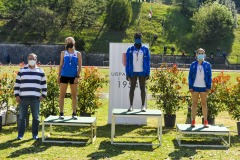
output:
[{"label": "blue jeans of the man in the striped sweater", "polygon": [[38,135],[40,101],[38,98],[21,98],[21,102],[19,104],[20,116],[18,119],[18,136],[20,137],[23,137],[26,129],[26,116],[28,113],[28,106],[31,108],[33,118],[32,135]]}]

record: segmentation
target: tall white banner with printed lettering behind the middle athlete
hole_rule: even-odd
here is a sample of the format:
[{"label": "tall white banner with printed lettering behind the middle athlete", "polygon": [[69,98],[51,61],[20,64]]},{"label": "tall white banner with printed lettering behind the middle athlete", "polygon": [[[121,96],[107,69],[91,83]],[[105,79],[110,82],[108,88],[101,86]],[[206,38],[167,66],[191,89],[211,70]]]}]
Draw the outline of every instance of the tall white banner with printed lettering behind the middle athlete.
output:
[{"label": "tall white banner with printed lettering behind the middle athlete", "polygon": [[[127,49],[132,46],[133,43],[110,43],[109,49],[109,66],[110,66],[110,86],[109,86],[109,107],[108,107],[108,123],[112,121],[113,109],[126,109],[130,106],[129,90],[130,82],[126,80],[125,72],[125,54]],[[149,47],[148,44],[143,44]],[[147,95],[147,90],[146,90]],[[147,96],[146,96],[147,97]],[[134,92],[133,109],[141,109],[141,92],[139,88],[139,82]],[[147,106],[147,99],[145,100],[145,106]],[[146,124],[146,118],[116,118],[116,124]]]}]

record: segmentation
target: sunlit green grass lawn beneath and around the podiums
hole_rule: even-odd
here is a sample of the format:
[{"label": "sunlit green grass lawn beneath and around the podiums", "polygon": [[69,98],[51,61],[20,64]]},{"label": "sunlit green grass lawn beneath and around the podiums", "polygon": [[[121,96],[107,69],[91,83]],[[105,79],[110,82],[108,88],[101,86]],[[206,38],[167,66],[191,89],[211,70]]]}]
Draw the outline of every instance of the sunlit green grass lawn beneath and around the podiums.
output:
[{"label": "sunlit green grass lawn beneath and around the podiums", "polygon": [[[43,67],[45,72],[48,72],[46,67]],[[17,71],[18,66],[0,68],[0,74],[11,73]],[[108,75],[108,69],[100,69],[100,73]],[[187,71],[184,74],[188,74]],[[213,72],[213,77],[218,72]],[[234,83],[234,77],[239,76],[239,72],[227,72],[231,75],[231,81]],[[102,92],[108,92],[109,86],[105,86]],[[187,88],[186,88],[187,89]],[[0,159],[239,159],[240,156],[240,139],[237,136],[236,121],[231,119],[227,112],[220,113],[215,120],[216,124],[223,124],[231,131],[231,147],[230,148],[187,148],[179,147],[176,141],[175,128],[163,127],[162,146],[126,146],[126,145],[111,145],[111,126],[108,121],[108,99],[101,99],[102,106],[97,110],[97,113],[92,116],[97,117],[97,139],[94,144],[55,144],[42,143],[41,140],[32,140],[31,123],[27,128],[23,140],[15,140],[17,137],[17,125],[3,126],[0,131]],[[71,115],[71,100],[65,100],[65,115]],[[157,109],[154,100],[147,101],[148,108]],[[184,124],[186,120],[187,106],[177,112],[177,124]],[[31,117],[30,117],[31,119]],[[44,118],[41,118],[41,121]],[[196,119],[197,123],[201,123],[201,118]],[[117,126],[117,133],[125,135],[146,134],[152,135],[156,132],[156,120],[148,119],[147,126]],[[86,132],[86,127],[54,127],[56,132],[61,133],[76,133]],[[144,130],[143,130],[144,129]],[[145,131],[145,129],[147,129]],[[46,128],[48,131],[49,128]],[[39,128],[39,137],[41,138],[41,124]],[[72,138],[72,137],[67,137]],[[119,140],[125,141],[120,138]],[[131,139],[130,139],[131,140]],[[144,139],[134,139],[143,141]],[[151,141],[151,139],[147,139]]]}]

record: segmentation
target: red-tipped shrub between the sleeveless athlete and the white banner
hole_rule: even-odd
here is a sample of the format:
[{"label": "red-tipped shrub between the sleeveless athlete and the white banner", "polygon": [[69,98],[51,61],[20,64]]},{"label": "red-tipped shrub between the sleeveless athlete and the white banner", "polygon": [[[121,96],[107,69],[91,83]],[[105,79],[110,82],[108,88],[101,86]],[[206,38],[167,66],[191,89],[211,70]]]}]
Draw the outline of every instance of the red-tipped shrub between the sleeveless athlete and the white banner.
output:
[{"label": "red-tipped shrub between the sleeveless athlete and the white banner", "polygon": [[105,77],[101,77],[96,67],[84,67],[83,76],[78,82],[78,107],[80,116],[89,116],[96,112],[101,103],[97,95],[100,88],[107,84]]}]

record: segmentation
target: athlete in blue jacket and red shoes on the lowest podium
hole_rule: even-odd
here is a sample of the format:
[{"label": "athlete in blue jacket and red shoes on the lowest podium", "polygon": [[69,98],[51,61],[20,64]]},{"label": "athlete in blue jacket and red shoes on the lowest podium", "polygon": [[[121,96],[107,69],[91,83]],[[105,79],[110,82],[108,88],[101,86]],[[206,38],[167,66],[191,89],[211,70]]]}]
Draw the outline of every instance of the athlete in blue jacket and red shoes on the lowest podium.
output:
[{"label": "athlete in blue jacket and red shoes on the lowest podium", "polygon": [[192,94],[191,127],[195,127],[196,124],[195,117],[199,96],[201,99],[204,127],[209,127],[207,120],[207,96],[212,86],[212,69],[211,64],[204,60],[204,49],[199,48],[197,50],[196,58],[197,60],[190,66],[188,75],[189,92]]}]

